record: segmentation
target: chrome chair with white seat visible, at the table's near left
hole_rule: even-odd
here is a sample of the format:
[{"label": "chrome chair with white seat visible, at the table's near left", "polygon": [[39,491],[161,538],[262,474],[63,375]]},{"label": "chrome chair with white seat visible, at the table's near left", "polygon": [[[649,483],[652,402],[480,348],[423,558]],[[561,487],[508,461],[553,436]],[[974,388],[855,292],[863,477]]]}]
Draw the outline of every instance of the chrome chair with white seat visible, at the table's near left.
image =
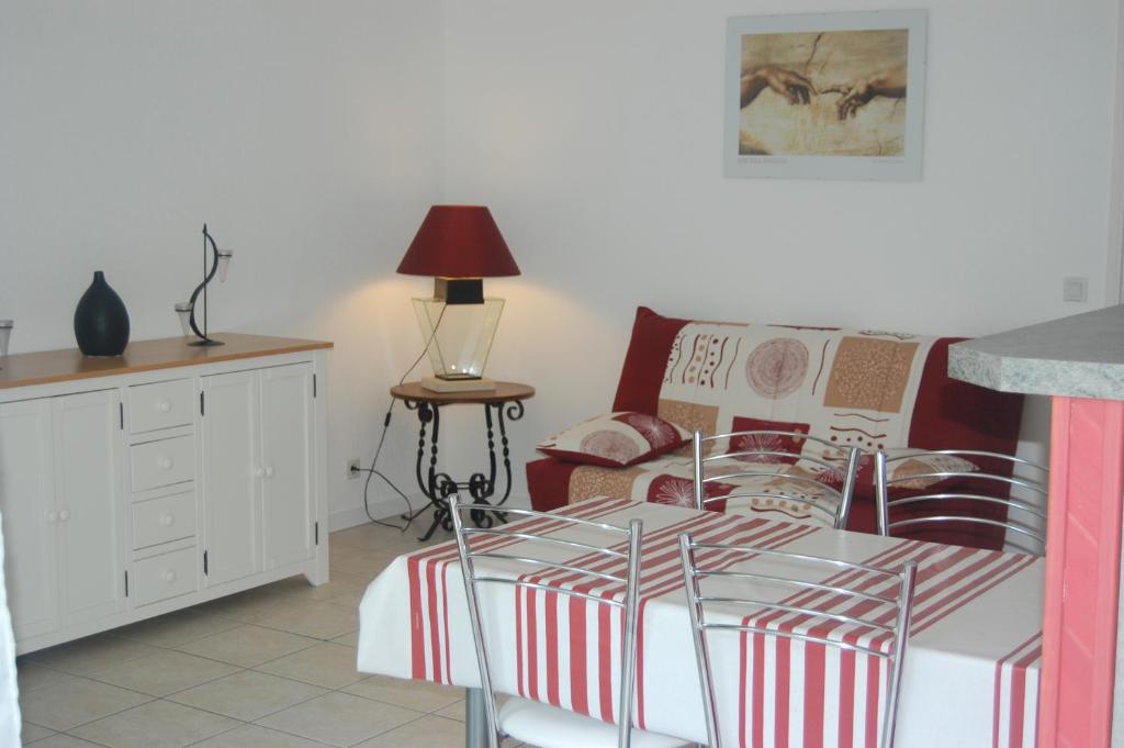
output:
[{"label": "chrome chair with white seat visible, at the table's near left", "polygon": [[[678,738],[671,738],[655,732],[646,732],[632,727],[633,691],[636,668],[636,628],[637,628],[637,593],[640,587],[640,543],[643,535],[643,523],[632,520],[627,529],[617,528],[600,522],[579,520],[561,514],[532,512],[528,510],[505,508],[509,519],[540,519],[551,523],[551,532],[563,529],[581,529],[606,538],[604,544],[578,542],[554,537],[537,534],[517,525],[501,528],[465,526],[462,513],[479,508],[473,504],[461,504],[456,496],[451,496],[448,511],[453,519],[456,533],[456,550],[461,560],[461,571],[464,577],[464,593],[469,603],[469,619],[472,623],[472,638],[477,648],[477,661],[480,666],[480,684],[483,691],[484,709],[488,721],[488,746],[499,748],[505,737],[522,742],[533,742],[541,748],[678,748],[688,745]],[[504,552],[500,547],[493,550],[491,546],[483,550],[473,549],[473,538],[506,538],[523,541],[517,552]],[[547,548],[569,549],[575,553],[586,553],[601,561],[601,570],[590,565],[559,562],[535,558],[534,555]],[[537,549],[537,550],[536,550]],[[623,549],[623,550],[622,550]],[[499,573],[478,569],[477,560],[500,562],[507,569]],[[605,570],[604,561],[613,561]],[[527,573],[536,575],[563,571],[570,575],[581,575],[591,579],[600,579],[610,585],[615,593],[611,596],[580,592],[563,586],[531,582]],[[596,605],[606,605],[624,612],[620,648],[620,682],[618,701],[618,723],[608,724],[600,720],[584,717],[564,709],[543,704],[526,699],[511,696],[501,709],[496,709],[496,692],[492,683],[492,657],[489,652],[486,621],[481,611],[482,585],[510,585],[577,597]],[[605,595],[605,596],[602,596]]]}]

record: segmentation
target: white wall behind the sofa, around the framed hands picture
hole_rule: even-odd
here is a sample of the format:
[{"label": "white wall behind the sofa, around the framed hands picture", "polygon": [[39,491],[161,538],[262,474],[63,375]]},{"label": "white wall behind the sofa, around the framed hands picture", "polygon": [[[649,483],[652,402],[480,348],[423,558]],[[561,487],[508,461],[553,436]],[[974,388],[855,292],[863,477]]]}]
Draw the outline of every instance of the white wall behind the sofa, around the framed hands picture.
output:
[{"label": "white wall behind the sofa, around the framed hands picture", "polygon": [[923,4],[924,179],[903,184],[722,174],[725,19],[855,6],[450,1],[446,198],[491,205],[524,271],[488,283],[491,373],[540,388],[520,460],[608,408],[637,304],[949,335],[1102,305],[1116,0]]}]

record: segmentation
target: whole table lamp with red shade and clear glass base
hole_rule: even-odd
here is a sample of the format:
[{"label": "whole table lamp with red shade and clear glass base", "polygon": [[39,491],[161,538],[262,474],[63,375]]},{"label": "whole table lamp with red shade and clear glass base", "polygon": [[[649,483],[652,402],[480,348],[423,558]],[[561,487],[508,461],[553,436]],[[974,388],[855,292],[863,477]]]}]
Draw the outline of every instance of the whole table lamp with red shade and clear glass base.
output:
[{"label": "whole table lamp with red shade and clear glass base", "polygon": [[483,377],[504,299],[484,298],[483,279],[518,276],[519,267],[484,206],[435,205],[398,265],[407,276],[433,276],[433,298],[414,299],[428,343],[438,393],[495,389]]}]

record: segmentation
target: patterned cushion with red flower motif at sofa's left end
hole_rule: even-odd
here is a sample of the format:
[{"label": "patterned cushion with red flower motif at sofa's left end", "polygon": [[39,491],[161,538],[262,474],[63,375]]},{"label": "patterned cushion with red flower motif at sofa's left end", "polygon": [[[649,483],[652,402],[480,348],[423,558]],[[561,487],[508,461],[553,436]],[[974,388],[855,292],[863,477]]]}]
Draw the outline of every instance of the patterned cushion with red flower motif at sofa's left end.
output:
[{"label": "patterned cushion with red flower motif at sofa's left end", "polygon": [[626,468],[679,448],[685,429],[645,413],[599,415],[538,444],[538,451],[568,462]]}]

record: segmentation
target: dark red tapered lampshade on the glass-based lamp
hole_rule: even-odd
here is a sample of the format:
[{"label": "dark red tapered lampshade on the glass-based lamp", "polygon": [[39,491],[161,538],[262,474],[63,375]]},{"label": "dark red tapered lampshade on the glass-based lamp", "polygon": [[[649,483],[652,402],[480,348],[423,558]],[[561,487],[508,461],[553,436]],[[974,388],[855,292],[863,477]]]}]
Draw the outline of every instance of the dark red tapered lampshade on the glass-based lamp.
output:
[{"label": "dark red tapered lampshade on the glass-based lamp", "polygon": [[435,205],[406,250],[398,272],[435,278],[518,276],[499,226],[482,205]]}]

